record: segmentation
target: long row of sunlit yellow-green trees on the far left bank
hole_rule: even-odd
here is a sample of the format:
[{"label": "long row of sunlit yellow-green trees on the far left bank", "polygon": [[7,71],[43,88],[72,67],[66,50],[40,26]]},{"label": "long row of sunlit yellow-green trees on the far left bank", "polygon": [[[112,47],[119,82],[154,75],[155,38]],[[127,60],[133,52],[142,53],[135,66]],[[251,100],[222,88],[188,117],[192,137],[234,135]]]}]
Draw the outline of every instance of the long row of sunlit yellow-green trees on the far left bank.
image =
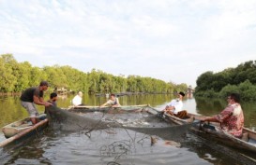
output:
[{"label": "long row of sunlit yellow-green trees on the far left bank", "polygon": [[39,68],[29,62],[17,62],[12,54],[0,55],[0,75],[0,92],[21,92],[38,86],[41,80],[49,81],[51,89],[65,88],[88,93],[173,93],[188,89],[185,83],[174,84],[143,76],[113,76],[97,69],[84,73],[68,65]]}]

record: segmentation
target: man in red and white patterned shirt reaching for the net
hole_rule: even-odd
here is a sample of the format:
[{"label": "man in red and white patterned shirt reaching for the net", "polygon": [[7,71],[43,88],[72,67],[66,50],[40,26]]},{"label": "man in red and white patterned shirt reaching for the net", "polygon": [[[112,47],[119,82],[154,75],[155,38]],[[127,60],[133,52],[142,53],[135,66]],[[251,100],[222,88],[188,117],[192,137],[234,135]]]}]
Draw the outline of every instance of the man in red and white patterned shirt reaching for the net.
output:
[{"label": "man in red and white patterned shirt reaching for the net", "polygon": [[213,121],[220,123],[220,129],[227,131],[235,137],[241,138],[244,127],[244,113],[240,105],[240,96],[232,93],[227,98],[228,106],[214,117],[203,117],[203,121]]}]

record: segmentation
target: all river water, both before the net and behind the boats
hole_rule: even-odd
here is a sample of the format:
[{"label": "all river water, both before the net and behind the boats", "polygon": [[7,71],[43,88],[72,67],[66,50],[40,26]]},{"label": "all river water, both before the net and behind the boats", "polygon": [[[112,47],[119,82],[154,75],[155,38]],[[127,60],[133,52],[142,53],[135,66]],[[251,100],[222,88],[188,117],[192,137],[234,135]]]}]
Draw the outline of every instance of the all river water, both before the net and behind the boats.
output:
[{"label": "all river water, both before the net and behind the boats", "polygon": [[[59,97],[58,106],[68,107],[72,97]],[[150,104],[160,110],[172,99],[173,95],[155,94],[122,96],[119,101],[122,105]],[[2,97],[0,102],[1,127],[27,117],[19,97]],[[88,105],[104,102],[105,97],[83,97],[83,103]],[[255,131],[256,103],[241,104],[246,118],[245,126]],[[225,105],[225,101],[218,99],[187,96],[184,100],[184,109],[188,112],[207,116],[217,114]],[[38,108],[43,112],[43,107]],[[161,133],[152,135],[154,132],[114,128],[92,131],[88,136],[84,131],[48,128],[22,145],[1,148],[0,164],[253,164],[242,157],[248,153],[211,143],[182,127],[173,127],[168,133],[171,136],[166,139]],[[157,140],[156,144],[151,144],[152,138]],[[4,139],[0,132],[0,140]]]}]

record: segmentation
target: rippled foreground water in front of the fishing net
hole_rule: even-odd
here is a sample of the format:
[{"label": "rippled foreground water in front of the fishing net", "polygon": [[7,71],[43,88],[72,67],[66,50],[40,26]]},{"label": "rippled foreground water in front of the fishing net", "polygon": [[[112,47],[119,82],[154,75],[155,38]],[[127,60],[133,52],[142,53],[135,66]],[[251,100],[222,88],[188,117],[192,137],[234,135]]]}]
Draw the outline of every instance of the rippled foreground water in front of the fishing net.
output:
[{"label": "rippled foreground water in front of the fishing net", "polygon": [[[155,136],[157,137],[157,136]],[[236,155],[187,132],[181,147],[158,137],[151,144],[148,134],[125,129],[92,131],[47,131],[28,144],[1,152],[4,164],[243,164]],[[8,153],[8,155],[7,155]],[[247,164],[247,163],[246,163]]]}]

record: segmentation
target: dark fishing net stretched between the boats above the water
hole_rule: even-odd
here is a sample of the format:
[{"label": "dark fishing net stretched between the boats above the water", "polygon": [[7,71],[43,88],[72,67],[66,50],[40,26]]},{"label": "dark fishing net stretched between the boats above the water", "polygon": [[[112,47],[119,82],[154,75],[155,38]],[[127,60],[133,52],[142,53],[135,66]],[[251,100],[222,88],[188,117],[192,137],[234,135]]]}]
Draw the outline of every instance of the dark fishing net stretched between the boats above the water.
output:
[{"label": "dark fishing net stretched between the boats above the water", "polygon": [[143,110],[101,109],[69,112],[57,107],[47,107],[46,111],[53,129],[62,131],[94,131],[99,129],[123,128],[148,135],[156,135],[164,140],[181,142],[190,124],[176,126],[167,123],[157,115]]}]

